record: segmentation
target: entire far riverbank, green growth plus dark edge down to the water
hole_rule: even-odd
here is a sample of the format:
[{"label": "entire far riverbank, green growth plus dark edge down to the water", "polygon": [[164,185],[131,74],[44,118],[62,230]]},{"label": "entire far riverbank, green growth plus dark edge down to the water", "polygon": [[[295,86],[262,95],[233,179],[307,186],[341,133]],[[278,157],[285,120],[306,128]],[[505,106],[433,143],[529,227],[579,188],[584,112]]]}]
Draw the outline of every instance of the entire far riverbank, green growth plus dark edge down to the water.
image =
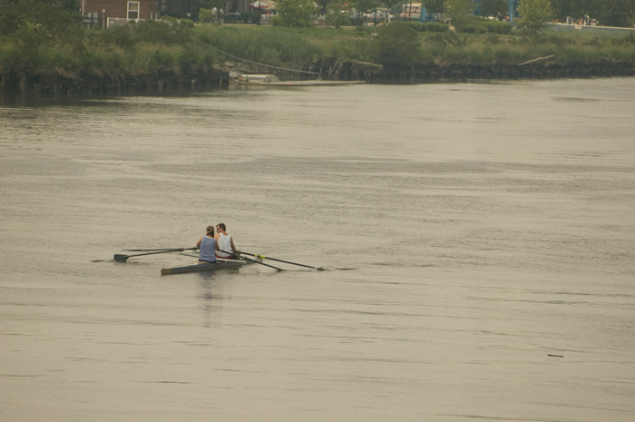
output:
[{"label": "entire far riverbank, green growth plus dark edge down to the water", "polygon": [[528,36],[434,32],[425,25],[335,30],[142,22],[58,35],[43,36],[32,28],[4,36],[0,93],[188,93],[226,89],[230,74],[366,83],[635,75],[633,34]]}]

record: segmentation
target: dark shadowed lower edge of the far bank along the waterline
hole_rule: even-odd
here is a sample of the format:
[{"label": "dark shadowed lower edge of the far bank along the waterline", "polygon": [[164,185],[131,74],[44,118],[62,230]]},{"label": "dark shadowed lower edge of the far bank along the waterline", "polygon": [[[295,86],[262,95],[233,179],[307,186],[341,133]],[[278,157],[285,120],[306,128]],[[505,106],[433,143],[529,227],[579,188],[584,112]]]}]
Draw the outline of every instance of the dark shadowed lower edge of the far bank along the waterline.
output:
[{"label": "dark shadowed lower edge of the far bank along the waterline", "polygon": [[[229,64],[232,69],[244,65]],[[261,66],[249,66],[253,73],[263,71]],[[445,67],[413,65],[410,69],[390,69],[378,64],[362,62],[315,62],[314,79],[308,74],[293,78],[278,72],[283,80],[273,86],[316,85],[312,81],[332,83],[445,83],[468,80],[520,80],[561,79],[612,76],[635,76],[630,64],[594,64],[562,66],[552,62],[517,66],[470,66],[452,64]],[[269,70],[270,72],[270,70]],[[300,83],[293,83],[293,82]],[[236,83],[229,70],[214,69],[207,73],[190,74],[127,74],[121,78],[78,79],[62,75],[10,74],[0,80],[0,94],[44,95],[54,97],[90,98],[116,95],[170,95],[229,89]],[[262,83],[267,85],[267,83]],[[325,83],[326,84],[326,83]]]}]

